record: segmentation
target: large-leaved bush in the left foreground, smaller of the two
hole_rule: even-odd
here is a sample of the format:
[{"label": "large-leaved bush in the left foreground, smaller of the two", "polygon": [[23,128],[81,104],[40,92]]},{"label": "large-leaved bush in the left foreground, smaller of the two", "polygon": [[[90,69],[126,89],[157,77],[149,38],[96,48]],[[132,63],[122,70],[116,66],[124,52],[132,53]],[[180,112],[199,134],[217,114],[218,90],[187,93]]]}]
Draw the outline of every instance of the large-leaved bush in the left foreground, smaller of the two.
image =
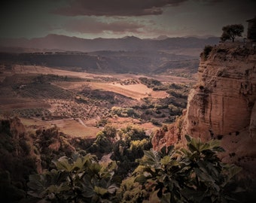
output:
[{"label": "large-leaved bush in the left foreground, smaller of the two", "polygon": [[101,165],[96,156],[74,154],[53,163],[56,169],[29,177],[29,195],[44,202],[111,202],[115,162]]}]

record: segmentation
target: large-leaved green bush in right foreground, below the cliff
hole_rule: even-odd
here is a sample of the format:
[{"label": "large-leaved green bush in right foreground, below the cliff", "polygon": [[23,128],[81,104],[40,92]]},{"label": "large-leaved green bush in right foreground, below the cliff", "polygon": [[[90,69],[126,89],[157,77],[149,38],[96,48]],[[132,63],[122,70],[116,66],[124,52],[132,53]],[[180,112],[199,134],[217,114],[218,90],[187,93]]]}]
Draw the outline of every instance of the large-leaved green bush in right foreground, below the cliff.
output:
[{"label": "large-leaved green bush in right foreground, below the cliff", "polygon": [[242,191],[233,179],[240,168],[221,162],[217,153],[223,149],[218,141],[202,143],[200,139],[186,138],[187,149],[173,150],[171,146],[160,152],[144,152],[133,173],[134,183],[140,185],[121,195],[123,202],[234,201],[233,192]]}]

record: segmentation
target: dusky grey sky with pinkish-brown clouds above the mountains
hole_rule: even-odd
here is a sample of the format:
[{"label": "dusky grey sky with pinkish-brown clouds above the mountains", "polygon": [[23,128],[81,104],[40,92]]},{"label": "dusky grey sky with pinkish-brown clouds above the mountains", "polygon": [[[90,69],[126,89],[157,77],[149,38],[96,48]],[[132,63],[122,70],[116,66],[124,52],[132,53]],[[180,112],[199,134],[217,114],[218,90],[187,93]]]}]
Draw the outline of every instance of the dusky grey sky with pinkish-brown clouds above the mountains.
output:
[{"label": "dusky grey sky with pinkish-brown clouds above the mountains", "polygon": [[255,0],[3,0],[0,38],[220,36],[256,16]]}]

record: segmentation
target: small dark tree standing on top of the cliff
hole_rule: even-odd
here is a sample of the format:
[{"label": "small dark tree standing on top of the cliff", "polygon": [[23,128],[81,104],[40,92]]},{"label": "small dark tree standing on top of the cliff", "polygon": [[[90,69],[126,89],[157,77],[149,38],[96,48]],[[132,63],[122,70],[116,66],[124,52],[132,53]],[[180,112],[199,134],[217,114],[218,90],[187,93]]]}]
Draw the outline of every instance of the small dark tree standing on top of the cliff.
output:
[{"label": "small dark tree standing on top of the cliff", "polygon": [[221,41],[232,40],[234,42],[236,37],[242,37],[244,27],[242,24],[228,25],[224,26],[222,31]]}]

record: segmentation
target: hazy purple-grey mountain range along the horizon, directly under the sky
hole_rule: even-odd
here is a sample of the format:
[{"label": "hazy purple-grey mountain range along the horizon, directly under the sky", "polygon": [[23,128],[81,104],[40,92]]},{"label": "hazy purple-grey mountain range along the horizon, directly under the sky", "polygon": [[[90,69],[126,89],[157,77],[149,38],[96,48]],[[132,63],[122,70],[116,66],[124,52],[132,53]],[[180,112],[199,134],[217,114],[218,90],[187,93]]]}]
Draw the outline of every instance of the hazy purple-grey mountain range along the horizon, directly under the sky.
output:
[{"label": "hazy purple-grey mountain range along the horizon, directly under the sky", "polygon": [[206,44],[216,44],[219,38],[168,38],[140,39],[134,36],[124,38],[84,39],[65,35],[47,35],[44,38],[2,38],[0,47],[20,47],[23,49],[64,50],[92,52],[97,50],[175,50],[179,48],[203,48]]}]

